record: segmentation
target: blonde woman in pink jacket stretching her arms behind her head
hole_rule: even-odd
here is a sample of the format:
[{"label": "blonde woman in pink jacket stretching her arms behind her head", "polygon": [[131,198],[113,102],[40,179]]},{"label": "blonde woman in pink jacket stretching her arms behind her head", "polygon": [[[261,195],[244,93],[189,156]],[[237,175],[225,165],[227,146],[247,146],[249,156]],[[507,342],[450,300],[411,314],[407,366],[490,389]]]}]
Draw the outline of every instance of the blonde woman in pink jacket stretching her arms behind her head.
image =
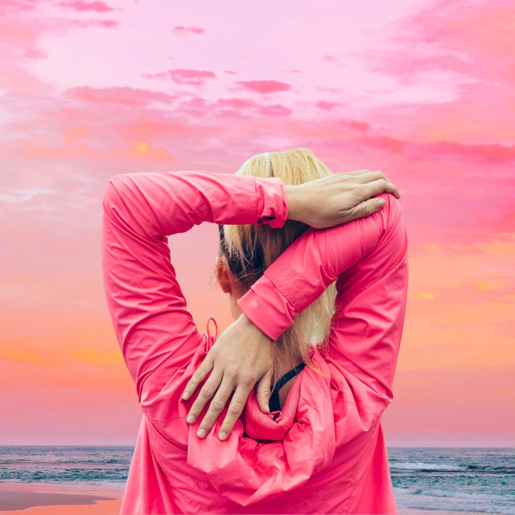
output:
[{"label": "blonde woman in pink jacket stretching her arms behind her head", "polygon": [[[121,513],[397,512],[381,426],[407,295],[397,197],[381,172],[332,174],[302,148],[234,175],[111,179],[104,285],[143,411]],[[235,318],[218,338],[209,320],[198,332],[167,245],[203,221],[223,226]]]}]

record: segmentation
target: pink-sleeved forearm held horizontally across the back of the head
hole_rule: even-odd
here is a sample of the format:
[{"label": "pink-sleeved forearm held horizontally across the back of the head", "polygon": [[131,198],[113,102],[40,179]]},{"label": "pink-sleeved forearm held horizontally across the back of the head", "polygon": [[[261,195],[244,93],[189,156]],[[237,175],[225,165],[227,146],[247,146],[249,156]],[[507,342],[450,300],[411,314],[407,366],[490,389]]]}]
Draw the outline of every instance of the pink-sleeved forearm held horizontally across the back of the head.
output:
[{"label": "pink-sleeved forearm held horizontally across the back of the head", "polygon": [[203,221],[281,228],[288,214],[279,178],[205,171],[114,176],[104,208],[141,236],[153,239],[185,232]]}]

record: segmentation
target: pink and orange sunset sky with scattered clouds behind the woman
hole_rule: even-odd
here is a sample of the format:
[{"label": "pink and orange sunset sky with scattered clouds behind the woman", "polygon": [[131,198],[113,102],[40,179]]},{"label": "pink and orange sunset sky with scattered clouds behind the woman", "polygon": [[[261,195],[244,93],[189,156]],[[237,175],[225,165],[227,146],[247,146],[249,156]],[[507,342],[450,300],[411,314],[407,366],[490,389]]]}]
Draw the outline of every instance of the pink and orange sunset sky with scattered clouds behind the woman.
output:
[{"label": "pink and orange sunset sky with scattered clouds behind the woman", "polygon": [[[308,147],[401,191],[409,294],[388,445],[514,445],[511,1],[0,4],[0,444],[133,444],[100,274],[119,173]],[[170,238],[200,331],[216,226]]]}]

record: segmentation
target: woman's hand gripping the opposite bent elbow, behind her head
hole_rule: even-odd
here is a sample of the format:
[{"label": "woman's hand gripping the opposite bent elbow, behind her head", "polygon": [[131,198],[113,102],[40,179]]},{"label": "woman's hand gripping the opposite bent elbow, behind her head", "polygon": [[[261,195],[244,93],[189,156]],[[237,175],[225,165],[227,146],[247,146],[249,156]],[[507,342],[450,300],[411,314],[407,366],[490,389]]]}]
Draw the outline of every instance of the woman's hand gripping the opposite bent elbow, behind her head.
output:
[{"label": "woman's hand gripping the opposite bent elbow, behind her head", "polygon": [[379,211],[384,192],[401,198],[397,186],[382,171],[354,170],[336,173],[299,185],[284,185],[288,219],[325,229]]}]

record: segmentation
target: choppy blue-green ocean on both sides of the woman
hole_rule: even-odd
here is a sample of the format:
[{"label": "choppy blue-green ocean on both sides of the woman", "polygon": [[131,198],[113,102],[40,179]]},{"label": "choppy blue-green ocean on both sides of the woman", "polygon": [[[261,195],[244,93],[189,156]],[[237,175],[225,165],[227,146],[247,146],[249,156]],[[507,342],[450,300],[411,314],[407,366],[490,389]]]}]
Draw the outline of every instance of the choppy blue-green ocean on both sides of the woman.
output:
[{"label": "choppy blue-green ocean on both sides of the woman", "polygon": [[[125,446],[4,445],[0,482],[124,487],[132,453]],[[388,457],[398,508],[515,515],[515,449],[389,447]]]}]

